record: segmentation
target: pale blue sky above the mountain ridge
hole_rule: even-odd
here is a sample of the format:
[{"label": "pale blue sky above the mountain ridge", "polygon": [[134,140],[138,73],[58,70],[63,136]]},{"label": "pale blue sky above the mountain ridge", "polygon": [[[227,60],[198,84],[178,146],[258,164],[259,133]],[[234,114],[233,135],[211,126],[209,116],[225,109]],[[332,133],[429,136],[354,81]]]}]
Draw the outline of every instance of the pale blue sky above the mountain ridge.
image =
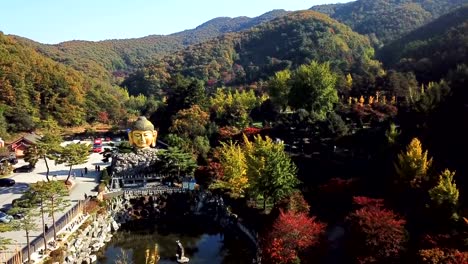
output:
[{"label": "pale blue sky above the mountain ridge", "polygon": [[41,43],[170,34],[212,18],[255,17],[349,0],[7,0],[0,31]]}]

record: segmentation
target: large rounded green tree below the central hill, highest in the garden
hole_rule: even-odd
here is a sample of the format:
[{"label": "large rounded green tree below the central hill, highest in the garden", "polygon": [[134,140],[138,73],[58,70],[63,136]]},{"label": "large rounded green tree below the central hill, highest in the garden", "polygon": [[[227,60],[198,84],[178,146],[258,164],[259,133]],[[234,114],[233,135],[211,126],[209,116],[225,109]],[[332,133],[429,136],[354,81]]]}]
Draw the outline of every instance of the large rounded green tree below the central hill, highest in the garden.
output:
[{"label": "large rounded green tree below the central hill, highest in the garden", "polygon": [[291,76],[290,106],[307,110],[315,120],[325,120],[338,102],[336,79],[329,63],[312,61],[299,66]]}]

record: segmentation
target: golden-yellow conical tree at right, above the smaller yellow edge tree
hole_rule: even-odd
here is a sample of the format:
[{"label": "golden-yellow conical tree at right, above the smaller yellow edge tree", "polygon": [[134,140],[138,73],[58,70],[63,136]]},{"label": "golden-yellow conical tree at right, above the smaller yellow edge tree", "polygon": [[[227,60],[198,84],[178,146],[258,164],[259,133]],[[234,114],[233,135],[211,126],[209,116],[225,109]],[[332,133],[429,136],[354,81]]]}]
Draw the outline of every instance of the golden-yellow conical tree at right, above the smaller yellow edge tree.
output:
[{"label": "golden-yellow conical tree at right, above the smaller yellow edge tree", "polygon": [[421,142],[413,138],[406,152],[398,154],[395,164],[398,181],[405,186],[420,188],[430,180],[428,172],[432,166],[432,158],[428,158],[427,150],[423,151]]}]

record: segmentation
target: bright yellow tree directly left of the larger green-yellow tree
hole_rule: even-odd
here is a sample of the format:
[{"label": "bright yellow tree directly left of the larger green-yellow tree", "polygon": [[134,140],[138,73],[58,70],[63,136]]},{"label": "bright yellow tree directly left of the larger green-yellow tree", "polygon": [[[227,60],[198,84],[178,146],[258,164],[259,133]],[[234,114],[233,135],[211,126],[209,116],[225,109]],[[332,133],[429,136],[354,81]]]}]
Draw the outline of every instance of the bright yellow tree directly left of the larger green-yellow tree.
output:
[{"label": "bright yellow tree directly left of the larger green-yellow tree", "polygon": [[223,176],[210,185],[211,189],[227,190],[232,197],[244,196],[249,188],[244,150],[232,142],[221,143],[218,148]]}]

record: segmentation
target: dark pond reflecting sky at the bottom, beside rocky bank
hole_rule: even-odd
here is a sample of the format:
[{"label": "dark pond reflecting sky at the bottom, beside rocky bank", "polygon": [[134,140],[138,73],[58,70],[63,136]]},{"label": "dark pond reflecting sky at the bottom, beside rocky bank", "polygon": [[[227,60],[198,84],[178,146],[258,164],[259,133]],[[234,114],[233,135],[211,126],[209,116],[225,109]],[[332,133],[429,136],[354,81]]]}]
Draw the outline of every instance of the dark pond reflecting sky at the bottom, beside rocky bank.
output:
[{"label": "dark pond reflecting sky at the bottom, beside rocky bank", "polygon": [[196,263],[252,263],[253,248],[243,234],[225,233],[203,219],[172,220],[165,223],[139,221],[127,224],[114,233],[112,240],[101,249],[97,263],[114,264],[127,255],[127,263],[146,263],[146,251],[160,255],[160,264],[177,263],[176,241],[180,240],[185,256]]}]

